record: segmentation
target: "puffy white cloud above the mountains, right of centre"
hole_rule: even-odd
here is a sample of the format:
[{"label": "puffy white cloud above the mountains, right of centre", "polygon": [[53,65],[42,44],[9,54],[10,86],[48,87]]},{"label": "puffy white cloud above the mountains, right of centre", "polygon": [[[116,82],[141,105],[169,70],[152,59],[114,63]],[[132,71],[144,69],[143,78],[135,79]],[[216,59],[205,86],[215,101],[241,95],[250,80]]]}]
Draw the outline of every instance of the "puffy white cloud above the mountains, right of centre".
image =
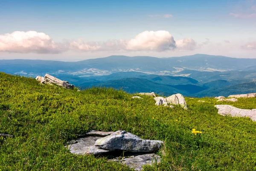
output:
[{"label": "puffy white cloud above the mountains, right of centre", "polygon": [[143,31],[127,42],[126,49],[132,51],[166,51],[176,48],[169,31]]}]

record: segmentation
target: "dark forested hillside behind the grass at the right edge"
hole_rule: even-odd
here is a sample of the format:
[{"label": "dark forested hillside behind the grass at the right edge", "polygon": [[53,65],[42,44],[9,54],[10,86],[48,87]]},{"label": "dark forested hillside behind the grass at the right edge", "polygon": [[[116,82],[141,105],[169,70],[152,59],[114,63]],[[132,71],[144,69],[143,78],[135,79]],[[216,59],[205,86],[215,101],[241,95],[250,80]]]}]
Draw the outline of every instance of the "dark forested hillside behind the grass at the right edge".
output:
[{"label": "dark forested hillside behind the grass at the right edge", "polygon": [[210,88],[196,94],[195,97],[215,97],[215,96],[229,96],[232,94],[247,94],[256,92],[256,81],[249,83],[241,83],[230,85],[222,88]]}]

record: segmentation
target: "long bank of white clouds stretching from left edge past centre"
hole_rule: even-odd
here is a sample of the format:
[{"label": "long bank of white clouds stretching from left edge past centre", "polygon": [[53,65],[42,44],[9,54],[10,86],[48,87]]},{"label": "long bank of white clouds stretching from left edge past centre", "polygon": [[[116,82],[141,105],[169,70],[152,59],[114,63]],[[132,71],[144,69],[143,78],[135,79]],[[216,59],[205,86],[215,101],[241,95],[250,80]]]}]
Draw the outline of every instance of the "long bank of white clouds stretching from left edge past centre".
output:
[{"label": "long bank of white clouds stretching from left edge past centre", "polygon": [[188,51],[194,50],[192,38],[174,40],[169,31],[143,31],[131,40],[87,42],[82,38],[55,43],[49,35],[36,31],[15,31],[0,35],[0,51],[56,54],[64,51]]}]

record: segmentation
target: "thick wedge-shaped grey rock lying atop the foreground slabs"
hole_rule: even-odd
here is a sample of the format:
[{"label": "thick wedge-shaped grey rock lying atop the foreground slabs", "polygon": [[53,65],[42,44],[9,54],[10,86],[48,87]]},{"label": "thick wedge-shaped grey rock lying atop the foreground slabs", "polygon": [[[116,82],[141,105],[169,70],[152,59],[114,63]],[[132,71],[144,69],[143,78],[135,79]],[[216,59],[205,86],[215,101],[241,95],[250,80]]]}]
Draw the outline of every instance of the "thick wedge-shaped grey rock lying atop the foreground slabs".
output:
[{"label": "thick wedge-shaped grey rock lying atop the foreground slabs", "polygon": [[105,150],[125,150],[131,152],[151,152],[161,148],[163,141],[143,140],[126,131],[115,133],[96,140],[95,145]]}]

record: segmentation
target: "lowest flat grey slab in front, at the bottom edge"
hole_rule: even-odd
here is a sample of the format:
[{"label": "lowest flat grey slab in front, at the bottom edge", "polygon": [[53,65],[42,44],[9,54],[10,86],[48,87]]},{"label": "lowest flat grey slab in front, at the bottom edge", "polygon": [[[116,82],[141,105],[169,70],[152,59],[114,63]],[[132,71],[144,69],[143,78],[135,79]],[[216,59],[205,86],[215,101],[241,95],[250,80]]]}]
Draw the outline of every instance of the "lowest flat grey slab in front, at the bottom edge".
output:
[{"label": "lowest flat grey slab in front, at the bottom edge", "polygon": [[136,171],[141,171],[143,168],[143,165],[152,165],[155,162],[160,162],[160,156],[157,154],[142,154],[137,156],[131,156],[131,157],[124,157],[124,159],[115,158],[109,160],[111,162],[120,162],[122,164],[125,164],[129,166],[130,168],[133,168]]}]

